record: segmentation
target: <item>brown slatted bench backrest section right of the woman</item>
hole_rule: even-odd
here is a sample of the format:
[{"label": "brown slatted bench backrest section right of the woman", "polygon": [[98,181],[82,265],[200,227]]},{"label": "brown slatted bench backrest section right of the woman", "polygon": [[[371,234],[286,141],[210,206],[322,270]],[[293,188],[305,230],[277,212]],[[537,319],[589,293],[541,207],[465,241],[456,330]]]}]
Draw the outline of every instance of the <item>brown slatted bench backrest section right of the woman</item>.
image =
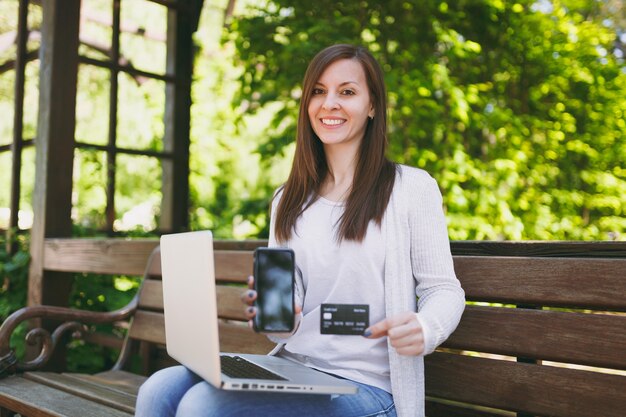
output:
[{"label": "brown slatted bench backrest section right of the woman", "polygon": [[[470,301],[426,358],[427,414],[622,416],[626,259],[455,256]],[[443,401],[445,400],[445,401]]]}]

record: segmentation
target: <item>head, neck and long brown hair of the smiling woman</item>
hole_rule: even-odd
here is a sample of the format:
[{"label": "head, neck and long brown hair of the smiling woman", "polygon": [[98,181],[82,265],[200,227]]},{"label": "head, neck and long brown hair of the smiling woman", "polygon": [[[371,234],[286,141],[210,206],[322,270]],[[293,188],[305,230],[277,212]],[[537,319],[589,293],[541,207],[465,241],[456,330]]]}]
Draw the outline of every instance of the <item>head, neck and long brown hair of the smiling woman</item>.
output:
[{"label": "head, neck and long brown hair of the smiling woman", "polygon": [[396,175],[386,158],[383,74],[367,49],[334,45],[313,59],[304,76],[297,131],[285,197],[277,207],[277,238],[290,238],[302,207],[322,196],[345,203],[339,239],[362,240],[371,220],[380,225]]}]

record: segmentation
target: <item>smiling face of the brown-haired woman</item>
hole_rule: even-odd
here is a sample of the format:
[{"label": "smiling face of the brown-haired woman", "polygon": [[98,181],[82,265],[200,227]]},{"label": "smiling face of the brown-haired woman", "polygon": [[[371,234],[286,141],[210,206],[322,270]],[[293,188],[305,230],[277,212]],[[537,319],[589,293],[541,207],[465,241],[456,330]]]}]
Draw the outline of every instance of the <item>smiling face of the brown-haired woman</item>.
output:
[{"label": "smiling face of the brown-haired woman", "polygon": [[325,147],[361,142],[374,109],[365,72],[358,61],[340,59],[324,70],[313,88],[308,115],[313,131]]}]

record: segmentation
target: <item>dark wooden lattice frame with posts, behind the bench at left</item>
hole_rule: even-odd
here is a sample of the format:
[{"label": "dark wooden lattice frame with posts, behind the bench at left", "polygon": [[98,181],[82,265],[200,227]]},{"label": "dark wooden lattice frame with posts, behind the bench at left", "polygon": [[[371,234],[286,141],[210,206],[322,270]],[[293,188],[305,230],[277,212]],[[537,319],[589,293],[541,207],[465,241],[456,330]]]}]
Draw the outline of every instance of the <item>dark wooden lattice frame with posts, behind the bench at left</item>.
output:
[{"label": "dark wooden lattice frame with posts, behind the bench at left", "polygon": [[[113,233],[115,220],[115,160],[117,155],[145,155],[162,161],[162,231],[180,231],[188,227],[189,200],[189,127],[191,80],[193,72],[193,39],[203,0],[149,0],[161,5],[167,14],[165,73],[151,73],[134,68],[120,55],[121,0],[112,1],[111,46],[104,50],[108,59],[95,59],[79,54],[80,0],[19,0],[17,52],[15,70],[15,116],[13,141],[1,146],[0,152],[11,150],[11,216],[9,228],[17,229],[20,199],[22,150],[36,144],[36,178],[33,193],[34,223],[30,231],[31,265],[28,305],[66,306],[72,285],[71,275],[48,271],[43,265],[44,241],[47,238],[72,236],[72,185],[75,149],[89,148],[105,152],[107,164],[106,229]],[[28,6],[42,10],[39,51],[28,51],[26,40]],[[23,137],[25,68],[29,60],[39,58],[39,114],[37,137]],[[79,65],[92,65],[110,72],[108,143],[94,145],[75,138],[75,108]],[[163,151],[120,148],[116,144],[118,74],[128,73],[157,79],[165,85]],[[176,187],[173,186],[176,184]],[[10,239],[9,239],[10,241]]]}]

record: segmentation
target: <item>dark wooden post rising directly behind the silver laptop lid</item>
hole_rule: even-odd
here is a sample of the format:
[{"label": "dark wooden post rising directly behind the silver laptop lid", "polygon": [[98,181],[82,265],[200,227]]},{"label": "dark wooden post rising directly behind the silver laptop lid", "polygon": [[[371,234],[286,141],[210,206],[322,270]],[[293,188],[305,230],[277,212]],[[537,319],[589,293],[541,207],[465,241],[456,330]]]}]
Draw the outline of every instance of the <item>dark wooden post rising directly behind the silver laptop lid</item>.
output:
[{"label": "dark wooden post rising directly behind the silver laptop lid", "polygon": [[160,229],[186,230],[189,226],[189,128],[193,32],[197,16],[191,9],[169,9],[167,14],[167,64],[173,83],[165,87],[164,149],[171,159],[163,160],[163,201]]}]

